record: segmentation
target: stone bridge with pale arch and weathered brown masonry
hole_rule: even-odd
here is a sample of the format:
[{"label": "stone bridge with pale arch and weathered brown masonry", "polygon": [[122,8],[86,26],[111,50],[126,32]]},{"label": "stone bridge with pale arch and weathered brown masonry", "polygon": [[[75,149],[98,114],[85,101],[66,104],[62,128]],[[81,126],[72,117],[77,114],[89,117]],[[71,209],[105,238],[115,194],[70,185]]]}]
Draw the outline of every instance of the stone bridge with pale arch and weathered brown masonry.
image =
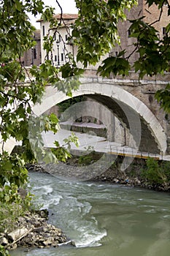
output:
[{"label": "stone bridge with pale arch and weathered brown masonry", "polygon": [[[155,91],[165,88],[169,83],[170,73],[166,73],[163,77],[147,77],[143,80],[139,80],[138,76],[139,74],[131,72],[127,78],[106,79],[97,76],[95,70],[86,70],[85,77],[80,79],[80,88],[73,91],[73,97],[86,95],[104,106],[111,116],[116,116],[133,137],[128,141],[128,146],[133,147],[136,143],[139,151],[169,154],[169,118],[160,109],[154,94]],[[69,99],[66,94],[47,86],[42,104],[35,105],[34,112],[41,115],[66,99]],[[90,106],[85,111],[86,115],[88,111],[88,116],[94,116],[93,108]],[[116,127],[112,125],[112,120],[110,118],[109,121],[102,121],[106,121],[108,134],[113,139],[114,136],[111,134],[114,134]]]}]

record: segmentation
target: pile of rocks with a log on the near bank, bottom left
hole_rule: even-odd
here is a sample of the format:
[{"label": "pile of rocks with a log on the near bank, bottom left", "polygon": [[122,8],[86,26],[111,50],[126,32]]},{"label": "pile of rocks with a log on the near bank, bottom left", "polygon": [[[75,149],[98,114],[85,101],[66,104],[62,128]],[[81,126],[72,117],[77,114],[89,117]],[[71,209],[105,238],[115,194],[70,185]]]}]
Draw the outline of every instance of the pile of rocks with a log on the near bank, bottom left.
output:
[{"label": "pile of rocks with a log on the near bank, bottom left", "polygon": [[48,220],[48,211],[26,211],[23,217],[19,217],[12,223],[13,229],[9,227],[0,233],[0,244],[5,249],[12,250],[19,246],[26,248],[58,247],[62,244],[71,244],[60,228],[57,228]]}]

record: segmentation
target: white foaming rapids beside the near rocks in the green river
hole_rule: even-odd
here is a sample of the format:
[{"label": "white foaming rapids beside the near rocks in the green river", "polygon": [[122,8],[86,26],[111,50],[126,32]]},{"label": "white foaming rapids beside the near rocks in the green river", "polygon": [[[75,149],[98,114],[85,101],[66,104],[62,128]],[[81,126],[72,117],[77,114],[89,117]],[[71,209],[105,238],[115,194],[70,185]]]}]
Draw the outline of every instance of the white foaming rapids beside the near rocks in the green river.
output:
[{"label": "white foaming rapids beside the near rocks in the green river", "polygon": [[[73,196],[72,191],[69,190],[71,186],[69,181],[56,179],[55,186],[49,176],[46,178],[49,180],[39,178],[34,186],[34,193],[39,195],[39,203],[43,203],[43,208],[53,212],[53,224],[56,225],[56,222],[62,224],[63,230],[77,247],[101,246],[101,238],[107,236],[107,231],[98,227],[96,218],[90,214],[92,206],[82,198],[87,195],[88,187],[96,190],[98,186],[103,187],[103,185],[95,186],[93,183],[87,183],[82,186],[82,183],[76,182],[72,187],[77,195]],[[67,188],[65,191],[63,184]],[[55,213],[57,213],[56,217]]]}]

